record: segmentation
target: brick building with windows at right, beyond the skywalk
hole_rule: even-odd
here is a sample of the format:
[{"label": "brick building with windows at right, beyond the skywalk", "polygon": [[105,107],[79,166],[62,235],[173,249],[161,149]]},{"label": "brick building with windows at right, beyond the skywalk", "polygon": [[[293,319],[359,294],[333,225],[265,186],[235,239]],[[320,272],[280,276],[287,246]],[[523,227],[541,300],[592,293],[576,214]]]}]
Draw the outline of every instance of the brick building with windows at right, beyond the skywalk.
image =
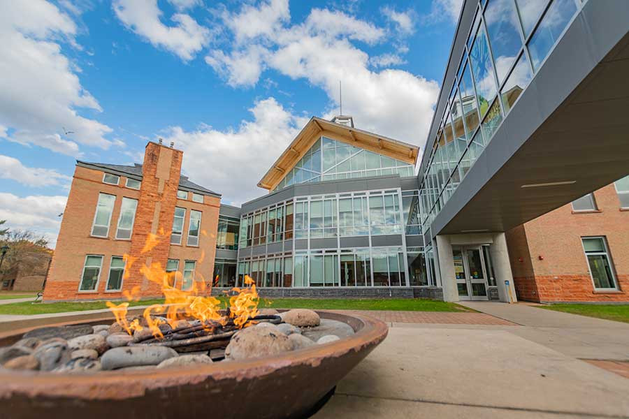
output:
[{"label": "brick building with windows at right, beyond the skywalk", "polygon": [[519,300],[629,301],[629,177],[507,231]]}]

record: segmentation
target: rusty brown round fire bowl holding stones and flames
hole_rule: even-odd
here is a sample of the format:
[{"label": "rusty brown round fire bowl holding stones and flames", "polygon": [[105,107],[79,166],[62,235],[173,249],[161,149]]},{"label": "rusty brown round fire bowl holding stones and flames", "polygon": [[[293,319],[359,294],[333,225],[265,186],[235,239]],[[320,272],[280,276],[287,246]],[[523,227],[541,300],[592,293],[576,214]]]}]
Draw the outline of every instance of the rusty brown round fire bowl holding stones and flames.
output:
[{"label": "rusty brown round fire bowl holding stones and flames", "polygon": [[[12,419],[303,418],[388,332],[385,323],[368,316],[317,313],[321,318],[347,323],[356,333],[331,344],[273,357],[180,369],[94,374],[4,370],[0,372],[0,416]],[[94,325],[103,320],[72,324]],[[28,330],[1,334],[0,346],[13,344]]]}]

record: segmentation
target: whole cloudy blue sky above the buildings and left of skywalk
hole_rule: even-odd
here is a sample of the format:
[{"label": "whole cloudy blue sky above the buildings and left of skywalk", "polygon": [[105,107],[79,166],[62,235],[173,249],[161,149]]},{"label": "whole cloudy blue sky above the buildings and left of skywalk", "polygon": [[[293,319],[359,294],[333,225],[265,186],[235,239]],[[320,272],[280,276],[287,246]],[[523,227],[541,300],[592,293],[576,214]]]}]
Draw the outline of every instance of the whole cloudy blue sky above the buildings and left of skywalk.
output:
[{"label": "whole cloudy blue sky above the buildings and left of skywalk", "polygon": [[[313,115],[424,145],[461,0],[0,2],[0,219],[54,245],[76,159],[148,140],[239,205]],[[66,131],[72,131],[66,133]]]}]

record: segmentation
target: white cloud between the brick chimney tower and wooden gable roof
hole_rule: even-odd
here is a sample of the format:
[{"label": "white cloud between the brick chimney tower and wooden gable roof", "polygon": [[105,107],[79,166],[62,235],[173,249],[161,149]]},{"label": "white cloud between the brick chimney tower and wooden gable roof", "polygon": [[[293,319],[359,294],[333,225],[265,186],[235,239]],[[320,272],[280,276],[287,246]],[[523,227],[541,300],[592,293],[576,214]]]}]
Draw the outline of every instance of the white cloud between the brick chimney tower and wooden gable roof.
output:
[{"label": "white cloud between the brick chimney tower and wooden gable roof", "polygon": [[184,131],[168,128],[164,142],[175,142],[184,151],[183,172],[212,191],[222,193],[224,203],[241,203],[263,194],[256,184],[294,136],[308,121],[297,117],[270,97],[250,109],[252,120],[238,128],[219,131],[201,126]]}]

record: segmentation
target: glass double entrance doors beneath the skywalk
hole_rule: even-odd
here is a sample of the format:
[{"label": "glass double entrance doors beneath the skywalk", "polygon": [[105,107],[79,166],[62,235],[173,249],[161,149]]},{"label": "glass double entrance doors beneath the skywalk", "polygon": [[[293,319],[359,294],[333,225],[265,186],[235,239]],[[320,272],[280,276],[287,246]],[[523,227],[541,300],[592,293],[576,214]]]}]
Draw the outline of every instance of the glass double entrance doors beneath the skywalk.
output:
[{"label": "glass double entrance doors beneath the skywalk", "polygon": [[487,274],[480,246],[454,247],[454,276],[461,300],[488,300]]}]

